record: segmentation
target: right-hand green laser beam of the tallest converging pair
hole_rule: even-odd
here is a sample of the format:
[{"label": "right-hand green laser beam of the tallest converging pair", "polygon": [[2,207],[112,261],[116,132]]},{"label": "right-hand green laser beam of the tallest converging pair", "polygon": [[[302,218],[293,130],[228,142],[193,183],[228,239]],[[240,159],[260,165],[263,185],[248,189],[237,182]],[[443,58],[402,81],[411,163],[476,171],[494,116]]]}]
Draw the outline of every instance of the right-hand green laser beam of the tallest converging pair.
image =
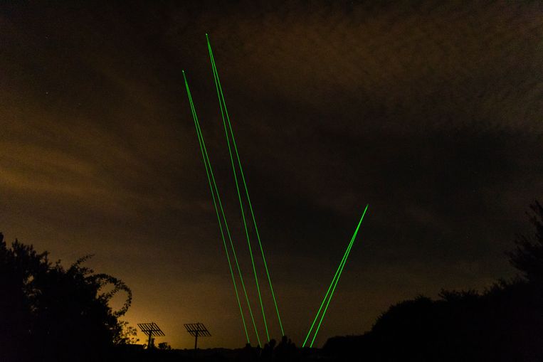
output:
[{"label": "right-hand green laser beam of the tallest converging pair", "polygon": [[[249,197],[249,191],[248,191],[248,188],[247,188],[245,175],[243,174],[243,167],[241,166],[241,159],[239,157],[238,147],[236,145],[236,139],[235,139],[234,134],[233,134],[232,124],[230,122],[230,117],[228,115],[228,110],[226,109],[226,102],[224,100],[224,94],[223,94],[223,90],[222,90],[222,87],[221,87],[221,82],[220,82],[220,80],[218,78],[218,71],[217,71],[217,68],[216,68],[215,60],[213,58],[213,51],[211,50],[211,43],[209,42],[208,34],[206,34],[206,40],[207,40],[207,43],[208,43],[209,56],[211,58],[211,66],[213,68],[213,78],[215,79],[215,83],[216,83],[217,96],[219,98],[219,105],[221,105],[221,116],[223,117],[223,125],[225,127],[225,132],[226,132],[226,123],[225,123],[225,117],[224,117],[224,115],[226,115],[226,120],[228,121],[228,129],[230,130],[233,148],[234,148],[234,151],[236,153],[236,159],[238,161],[238,166],[239,166],[239,170],[240,170],[240,174],[241,174],[241,179],[243,181],[243,187],[244,187],[244,190],[245,190],[245,193],[246,193],[246,197],[247,197],[247,201],[248,201],[248,205],[249,205],[249,210],[251,211],[251,218],[253,220],[253,225],[255,226],[255,233],[256,233],[257,240],[258,240],[258,245],[260,247],[260,254],[262,255],[262,260],[263,260],[266,276],[268,277],[268,283],[270,284],[270,292],[272,294],[273,303],[275,305],[275,312],[277,312],[279,326],[280,326],[280,329],[281,329],[281,334],[284,336],[285,331],[283,330],[283,323],[281,321],[281,316],[280,316],[280,313],[279,313],[277,299],[275,298],[275,292],[273,290],[273,286],[272,286],[272,282],[271,282],[271,278],[270,278],[270,272],[268,270],[268,263],[265,260],[264,250],[263,250],[262,242],[260,240],[260,233],[258,233],[258,226],[256,225],[256,219],[255,219],[255,214],[254,214],[254,211],[253,211],[253,206],[252,206],[252,203],[251,203],[251,198]],[[220,92],[220,95],[219,95],[219,92]],[[222,107],[224,107],[224,112],[223,112]],[[227,142],[228,142],[228,134],[226,135],[226,139],[227,139]],[[230,153],[231,153],[229,142],[228,142],[228,151],[230,151]],[[231,159],[232,159],[232,154],[231,154]],[[235,171],[234,171],[234,176],[236,177],[236,172]],[[237,181],[236,181],[236,187],[237,187]],[[239,196],[239,191],[238,191],[238,196]],[[241,197],[240,197],[240,199],[241,199]],[[242,210],[243,210],[243,208],[242,208]],[[245,219],[244,219],[244,222],[245,222]],[[251,255],[251,257],[252,257],[252,255]],[[267,332],[267,329],[266,329],[266,332]],[[268,339],[269,339],[269,336],[268,336]]]}]

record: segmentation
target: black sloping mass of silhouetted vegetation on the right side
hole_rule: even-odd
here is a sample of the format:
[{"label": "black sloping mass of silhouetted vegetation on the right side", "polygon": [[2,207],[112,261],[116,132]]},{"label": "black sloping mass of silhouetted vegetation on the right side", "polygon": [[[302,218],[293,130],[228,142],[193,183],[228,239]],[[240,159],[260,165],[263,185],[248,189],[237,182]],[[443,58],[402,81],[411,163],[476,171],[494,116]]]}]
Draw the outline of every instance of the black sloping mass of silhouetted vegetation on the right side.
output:
[{"label": "black sloping mass of silhouetted vegetation on the right side", "polygon": [[446,291],[389,308],[363,336],[334,337],[324,352],[367,361],[543,361],[543,208],[518,235],[510,262],[522,274],[483,293]]}]

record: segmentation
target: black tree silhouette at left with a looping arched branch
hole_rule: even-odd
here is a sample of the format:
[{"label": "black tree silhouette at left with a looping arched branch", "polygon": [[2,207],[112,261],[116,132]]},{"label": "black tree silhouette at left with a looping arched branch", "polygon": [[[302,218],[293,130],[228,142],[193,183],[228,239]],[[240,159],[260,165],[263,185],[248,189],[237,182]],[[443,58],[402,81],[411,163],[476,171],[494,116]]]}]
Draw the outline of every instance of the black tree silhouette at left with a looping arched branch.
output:
[{"label": "black tree silhouette at left with a looping arched branch", "polygon": [[[84,267],[89,258],[64,269],[32,245],[8,247],[0,233],[0,361],[100,361],[124,341],[119,318],[132,292]],[[114,312],[108,302],[120,291],[127,300]]]}]

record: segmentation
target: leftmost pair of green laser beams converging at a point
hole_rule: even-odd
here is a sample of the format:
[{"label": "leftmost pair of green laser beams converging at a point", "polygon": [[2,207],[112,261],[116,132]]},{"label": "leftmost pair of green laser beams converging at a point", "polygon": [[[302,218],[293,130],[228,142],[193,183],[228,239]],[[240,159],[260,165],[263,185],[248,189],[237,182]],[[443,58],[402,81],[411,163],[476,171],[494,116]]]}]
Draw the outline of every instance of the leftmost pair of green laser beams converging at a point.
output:
[{"label": "leftmost pair of green laser beams converging at a point", "polygon": [[[260,337],[258,336],[258,329],[256,328],[255,320],[254,320],[254,317],[253,317],[253,312],[251,310],[251,303],[249,302],[248,294],[247,294],[246,287],[245,287],[245,283],[243,282],[243,277],[242,277],[242,274],[241,274],[241,268],[239,267],[238,258],[236,256],[236,250],[235,250],[235,247],[233,246],[231,233],[230,233],[230,230],[228,229],[228,223],[226,221],[226,215],[225,215],[224,210],[223,210],[223,206],[222,206],[222,203],[221,203],[221,198],[220,198],[220,196],[218,194],[218,188],[216,186],[215,177],[213,175],[213,169],[211,168],[211,161],[209,159],[209,154],[207,153],[206,144],[204,142],[204,135],[202,134],[201,128],[199,126],[198,116],[196,115],[196,107],[194,107],[194,102],[192,101],[192,96],[191,96],[191,93],[190,93],[190,90],[189,90],[189,84],[188,84],[188,82],[186,80],[186,76],[185,76],[184,72],[183,72],[183,77],[184,77],[184,81],[185,81],[187,95],[189,96],[189,102],[191,104],[191,112],[192,112],[192,116],[194,118],[194,124],[195,124],[195,127],[196,127],[196,134],[198,136],[202,156],[204,158],[204,166],[206,166],[206,175],[208,176],[209,187],[211,189],[211,196],[213,197],[213,204],[214,204],[215,209],[216,209],[217,218],[218,218],[218,222],[219,222],[219,228],[221,229],[221,236],[223,238],[223,244],[224,244],[224,247],[225,247],[225,250],[226,250],[226,257],[228,259],[228,266],[230,267],[230,270],[231,270],[234,289],[236,291],[236,299],[238,299],[238,304],[239,304],[240,312],[241,312],[241,319],[243,321],[243,327],[244,327],[244,329],[246,331],[247,341],[248,341],[248,343],[250,343],[249,337],[248,337],[248,331],[247,331],[247,328],[246,328],[245,318],[243,316],[243,309],[241,308],[241,302],[240,302],[239,297],[238,297],[238,289],[236,287],[235,278],[233,277],[233,270],[232,270],[232,267],[231,267],[231,260],[230,260],[230,257],[228,256],[228,248],[226,247],[226,240],[224,238],[223,230],[222,230],[222,227],[221,227],[221,218],[220,218],[220,216],[218,214],[217,203],[215,201],[215,196],[214,196],[214,193],[213,193],[213,187],[211,186],[211,183],[213,183],[213,186],[215,188],[215,192],[216,192],[217,200],[218,200],[218,205],[219,205],[219,207],[221,209],[221,213],[223,215],[223,220],[224,220],[224,223],[225,223],[226,233],[227,233],[228,239],[230,241],[233,257],[234,257],[234,260],[236,262],[236,267],[237,267],[238,274],[239,274],[239,277],[240,277],[241,285],[243,287],[243,292],[244,292],[245,297],[246,297],[246,302],[247,302],[247,305],[248,305],[249,314],[251,314],[251,319],[253,321],[253,327],[255,329],[255,334],[256,334],[256,337],[257,337],[257,340],[258,340],[258,344],[260,344]],[[209,171],[208,171],[208,165],[209,165]]]}]

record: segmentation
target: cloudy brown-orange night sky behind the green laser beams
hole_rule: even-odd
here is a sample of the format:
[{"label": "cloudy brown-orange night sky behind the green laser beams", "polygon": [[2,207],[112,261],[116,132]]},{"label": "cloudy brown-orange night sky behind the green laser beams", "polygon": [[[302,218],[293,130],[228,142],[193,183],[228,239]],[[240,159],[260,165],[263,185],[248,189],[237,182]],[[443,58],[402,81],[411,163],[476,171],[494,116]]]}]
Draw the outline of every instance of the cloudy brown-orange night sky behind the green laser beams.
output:
[{"label": "cloudy brown-orange night sky behind the green laser beams", "polygon": [[63,265],[94,254],[157,342],[191,348],[200,321],[202,348],[245,344],[181,70],[258,311],[205,33],[297,345],[367,203],[318,346],[402,299],[515,275],[504,252],[543,198],[539,1],[0,9],[0,231]]}]

